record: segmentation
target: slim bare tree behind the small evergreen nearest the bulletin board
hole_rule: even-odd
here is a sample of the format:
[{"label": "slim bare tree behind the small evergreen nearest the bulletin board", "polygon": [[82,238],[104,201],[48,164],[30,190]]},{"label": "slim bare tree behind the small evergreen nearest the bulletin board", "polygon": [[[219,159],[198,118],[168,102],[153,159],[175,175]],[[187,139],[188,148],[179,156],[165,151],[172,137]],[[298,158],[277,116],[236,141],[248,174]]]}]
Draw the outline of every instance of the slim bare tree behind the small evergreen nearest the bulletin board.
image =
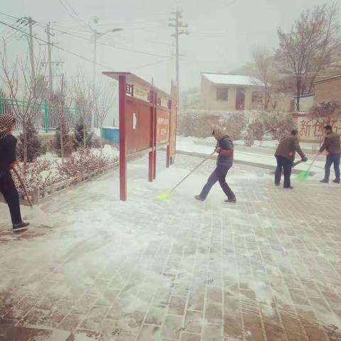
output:
[{"label": "slim bare tree behind the small evergreen nearest the bulletin board", "polygon": [[83,147],[87,147],[87,126],[90,126],[94,110],[94,89],[85,81],[82,71],[78,72],[74,81],[75,104],[79,109],[80,122],[83,126]]}]

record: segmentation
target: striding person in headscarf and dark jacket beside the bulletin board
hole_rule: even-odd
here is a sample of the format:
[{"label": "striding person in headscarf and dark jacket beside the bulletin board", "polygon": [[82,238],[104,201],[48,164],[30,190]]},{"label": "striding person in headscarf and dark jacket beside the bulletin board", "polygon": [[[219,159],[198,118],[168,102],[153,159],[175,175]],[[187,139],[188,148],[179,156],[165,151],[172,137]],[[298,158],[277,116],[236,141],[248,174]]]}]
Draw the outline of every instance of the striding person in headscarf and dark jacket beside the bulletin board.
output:
[{"label": "striding person in headscarf and dark jacket beside the bulletin board", "polygon": [[220,128],[215,128],[215,130],[212,132],[212,135],[215,136],[215,139],[217,140],[217,146],[215,149],[218,153],[217,168],[215,168],[215,171],[213,171],[213,173],[210,175],[210,178],[208,178],[207,183],[204,188],[202,188],[200,195],[195,195],[195,199],[204,201],[212,186],[219,181],[220,187],[227,195],[227,200],[225,201],[232,203],[237,202],[236,196],[226,183],[227,172],[233,164],[233,141],[226,131],[223,131]]}]

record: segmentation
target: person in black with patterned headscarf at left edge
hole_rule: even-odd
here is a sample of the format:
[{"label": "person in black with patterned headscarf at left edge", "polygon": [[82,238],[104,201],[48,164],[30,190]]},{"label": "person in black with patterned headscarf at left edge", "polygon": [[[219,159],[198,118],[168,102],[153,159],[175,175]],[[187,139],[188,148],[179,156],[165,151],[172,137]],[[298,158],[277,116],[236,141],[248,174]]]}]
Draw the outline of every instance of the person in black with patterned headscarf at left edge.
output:
[{"label": "person in black with patterned headscarf at left edge", "polygon": [[16,119],[11,115],[0,116],[0,192],[9,205],[13,231],[28,227],[21,219],[18,190],[11,177],[11,168],[16,166],[16,138],[11,134]]}]

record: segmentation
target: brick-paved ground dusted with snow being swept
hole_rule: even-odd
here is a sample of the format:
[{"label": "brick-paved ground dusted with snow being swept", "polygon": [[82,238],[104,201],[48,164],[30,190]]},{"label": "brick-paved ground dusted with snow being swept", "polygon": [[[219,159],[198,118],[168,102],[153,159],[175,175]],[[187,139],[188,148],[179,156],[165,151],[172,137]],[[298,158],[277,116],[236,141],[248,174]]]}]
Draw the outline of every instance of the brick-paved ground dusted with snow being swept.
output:
[{"label": "brick-paved ground dusted with snow being swept", "polygon": [[151,199],[198,161],[153,184],[135,161],[126,203],[117,173],[70,190],[44,207],[53,229],[13,236],[0,205],[0,340],[340,341],[341,187],[236,165],[237,205],[196,202],[207,161]]}]

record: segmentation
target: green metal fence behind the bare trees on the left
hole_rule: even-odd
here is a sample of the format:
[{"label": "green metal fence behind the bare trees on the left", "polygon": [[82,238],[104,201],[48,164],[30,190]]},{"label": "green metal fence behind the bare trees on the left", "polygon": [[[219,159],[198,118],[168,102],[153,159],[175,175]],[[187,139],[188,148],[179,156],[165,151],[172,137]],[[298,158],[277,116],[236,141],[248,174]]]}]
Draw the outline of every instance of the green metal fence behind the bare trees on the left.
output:
[{"label": "green metal fence behind the bare trees on the left", "polygon": [[[58,128],[60,117],[65,117],[70,128],[75,126],[78,119],[80,118],[80,109],[77,107],[77,105],[73,105],[72,107],[60,107],[60,105],[56,105],[46,99],[44,99],[42,102],[35,103],[34,105],[28,104],[28,102],[22,100],[12,103],[11,99],[4,97],[0,93],[0,115],[15,114],[16,111],[13,110],[13,107],[18,107],[18,110],[23,110],[28,106],[30,106],[30,117],[33,121],[33,124],[40,132],[45,131],[45,133],[48,133],[49,131],[54,131],[56,128]],[[86,115],[86,120],[87,124],[90,126],[90,113]],[[94,119],[94,126],[96,128],[99,126],[97,119]],[[18,118],[16,120],[16,129],[21,128],[21,119]]]}]

